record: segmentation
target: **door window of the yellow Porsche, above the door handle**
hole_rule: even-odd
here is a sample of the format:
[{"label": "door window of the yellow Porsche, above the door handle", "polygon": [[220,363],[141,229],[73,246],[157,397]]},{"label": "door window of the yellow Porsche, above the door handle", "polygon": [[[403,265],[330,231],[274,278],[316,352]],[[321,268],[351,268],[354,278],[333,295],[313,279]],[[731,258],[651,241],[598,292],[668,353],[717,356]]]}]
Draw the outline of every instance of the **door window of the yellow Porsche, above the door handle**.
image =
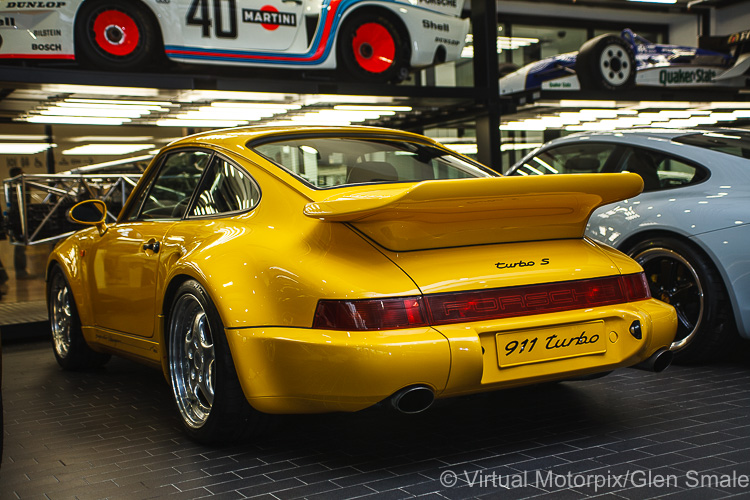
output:
[{"label": "door window of the yellow Porsche, above the door handle", "polygon": [[211,153],[205,151],[169,155],[154,181],[143,191],[145,199],[140,212],[134,212],[129,220],[182,218],[210,157]]}]

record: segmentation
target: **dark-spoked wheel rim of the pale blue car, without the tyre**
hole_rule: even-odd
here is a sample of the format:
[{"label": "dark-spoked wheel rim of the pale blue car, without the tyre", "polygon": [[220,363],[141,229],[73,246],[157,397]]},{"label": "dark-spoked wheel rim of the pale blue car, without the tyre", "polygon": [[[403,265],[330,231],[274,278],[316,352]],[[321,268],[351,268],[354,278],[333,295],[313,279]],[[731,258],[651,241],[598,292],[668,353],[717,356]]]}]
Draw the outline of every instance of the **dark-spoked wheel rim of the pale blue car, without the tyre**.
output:
[{"label": "dark-spoked wheel rim of the pale blue car, without the tyre", "polygon": [[692,264],[668,248],[649,248],[633,258],[646,272],[651,295],[677,311],[672,350],[686,346],[700,329],[705,309],[703,286]]}]

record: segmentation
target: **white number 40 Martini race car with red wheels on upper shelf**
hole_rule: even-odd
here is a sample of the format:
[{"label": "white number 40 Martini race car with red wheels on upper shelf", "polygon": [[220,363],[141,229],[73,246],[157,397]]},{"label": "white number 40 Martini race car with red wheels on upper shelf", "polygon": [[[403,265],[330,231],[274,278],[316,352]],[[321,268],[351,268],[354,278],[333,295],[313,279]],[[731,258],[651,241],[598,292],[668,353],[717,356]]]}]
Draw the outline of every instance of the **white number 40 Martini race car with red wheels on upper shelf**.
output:
[{"label": "white number 40 Martini race car with red wheels on upper shelf", "polygon": [[344,67],[402,80],[461,55],[464,0],[0,1],[0,59],[133,71],[186,63]]}]

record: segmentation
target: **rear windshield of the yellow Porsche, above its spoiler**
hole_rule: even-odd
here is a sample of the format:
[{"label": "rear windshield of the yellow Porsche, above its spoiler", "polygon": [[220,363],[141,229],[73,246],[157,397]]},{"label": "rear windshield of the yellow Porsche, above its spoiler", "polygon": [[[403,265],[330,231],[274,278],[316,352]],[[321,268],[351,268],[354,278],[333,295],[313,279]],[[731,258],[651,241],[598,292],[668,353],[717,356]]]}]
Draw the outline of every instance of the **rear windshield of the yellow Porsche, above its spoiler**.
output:
[{"label": "rear windshield of the yellow Porsche, above its spoiler", "polygon": [[319,189],[351,184],[498,175],[468,158],[418,142],[293,137],[250,146]]}]

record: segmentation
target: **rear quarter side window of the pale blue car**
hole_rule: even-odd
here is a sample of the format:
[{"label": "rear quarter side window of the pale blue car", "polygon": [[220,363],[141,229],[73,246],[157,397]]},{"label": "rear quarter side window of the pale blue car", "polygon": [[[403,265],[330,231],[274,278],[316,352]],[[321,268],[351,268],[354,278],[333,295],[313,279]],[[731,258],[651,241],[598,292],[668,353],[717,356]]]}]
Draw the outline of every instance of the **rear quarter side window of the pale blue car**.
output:
[{"label": "rear quarter side window of the pale blue car", "polygon": [[659,191],[694,184],[707,177],[702,169],[658,151],[628,148],[620,170],[643,178],[643,191]]}]

